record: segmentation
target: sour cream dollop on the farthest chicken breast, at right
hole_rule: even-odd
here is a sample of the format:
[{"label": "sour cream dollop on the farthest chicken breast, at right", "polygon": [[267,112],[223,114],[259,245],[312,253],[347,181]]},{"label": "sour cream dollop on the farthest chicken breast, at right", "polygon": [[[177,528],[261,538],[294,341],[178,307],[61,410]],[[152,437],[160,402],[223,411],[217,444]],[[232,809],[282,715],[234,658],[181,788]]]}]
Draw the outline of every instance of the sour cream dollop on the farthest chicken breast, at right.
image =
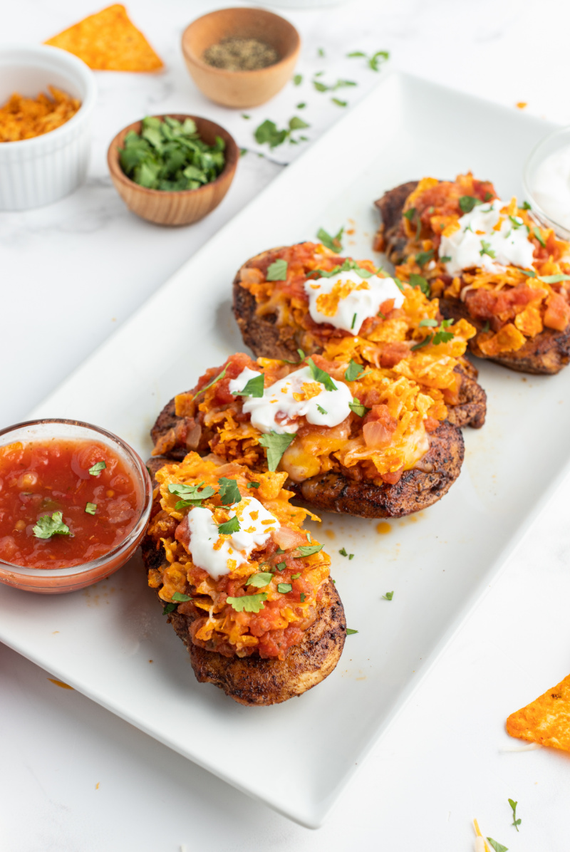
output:
[{"label": "sour cream dollop on the farthest chicken breast, at right", "polygon": [[[441,237],[440,257],[450,258],[445,262],[449,275],[473,267],[495,272],[509,264],[523,268],[533,266],[534,246],[528,239],[527,227],[519,216],[511,218],[501,213],[507,206],[500,199],[477,204],[459,219],[457,231],[449,237]],[[495,230],[499,221],[500,228]]]}]

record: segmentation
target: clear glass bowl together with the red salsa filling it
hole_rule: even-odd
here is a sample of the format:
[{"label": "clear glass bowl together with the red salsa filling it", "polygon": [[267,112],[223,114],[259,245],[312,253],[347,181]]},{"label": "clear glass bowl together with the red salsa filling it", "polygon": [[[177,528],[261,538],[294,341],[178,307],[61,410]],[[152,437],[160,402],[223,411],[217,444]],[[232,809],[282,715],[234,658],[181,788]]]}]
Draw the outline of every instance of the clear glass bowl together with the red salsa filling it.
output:
[{"label": "clear glass bowl together with the red salsa filling it", "polygon": [[147,466],[106,429],[0,429],[0,582],[49,595],[108,577],[134,554],[152,504]]}]

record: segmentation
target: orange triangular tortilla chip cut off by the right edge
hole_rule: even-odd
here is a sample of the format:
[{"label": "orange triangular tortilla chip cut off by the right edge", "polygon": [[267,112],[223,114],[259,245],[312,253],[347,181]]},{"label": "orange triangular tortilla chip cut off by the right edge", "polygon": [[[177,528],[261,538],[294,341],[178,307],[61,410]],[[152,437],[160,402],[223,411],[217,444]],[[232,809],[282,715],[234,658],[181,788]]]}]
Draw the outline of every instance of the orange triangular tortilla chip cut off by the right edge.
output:
[{"label": "orange triangular tortilla chip cut off by the right edge", "polygon": [[570,751],[570,675],[512,713],[506,727],[511,737]]}]

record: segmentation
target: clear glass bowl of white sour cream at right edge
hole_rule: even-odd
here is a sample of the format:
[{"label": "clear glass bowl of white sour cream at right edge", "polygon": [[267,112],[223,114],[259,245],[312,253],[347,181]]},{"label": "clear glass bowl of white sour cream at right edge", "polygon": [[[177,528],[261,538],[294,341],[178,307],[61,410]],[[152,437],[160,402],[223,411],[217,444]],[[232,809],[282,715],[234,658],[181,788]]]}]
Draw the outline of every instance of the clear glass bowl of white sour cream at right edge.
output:
[{"label": "clear glass bowl of white sour cream at right edge", "polygon": [[522,181],[537,219],[561,239],[570,239],[570,127],[555,130],[538,142],[527,159]]}]

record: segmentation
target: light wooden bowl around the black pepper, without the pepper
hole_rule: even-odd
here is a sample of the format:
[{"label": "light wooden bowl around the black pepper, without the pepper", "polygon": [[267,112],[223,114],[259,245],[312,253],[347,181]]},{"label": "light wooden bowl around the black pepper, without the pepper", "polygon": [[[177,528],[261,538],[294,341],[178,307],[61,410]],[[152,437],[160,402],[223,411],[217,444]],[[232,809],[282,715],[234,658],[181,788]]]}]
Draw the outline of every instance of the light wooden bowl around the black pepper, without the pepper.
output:
[{"label": "light wooden bowl around the black pepper, without the pepper", "polygon": [[[257,71],[225,71],[204,61],[204,50],[224,38],[257,38],[277,51],[279,62]],[[279,14],[265,9],[220,9],[194,20],[182,34],[182,53],[198,88],[223,107],[259,107],[293,76],[301,38]]]}]

